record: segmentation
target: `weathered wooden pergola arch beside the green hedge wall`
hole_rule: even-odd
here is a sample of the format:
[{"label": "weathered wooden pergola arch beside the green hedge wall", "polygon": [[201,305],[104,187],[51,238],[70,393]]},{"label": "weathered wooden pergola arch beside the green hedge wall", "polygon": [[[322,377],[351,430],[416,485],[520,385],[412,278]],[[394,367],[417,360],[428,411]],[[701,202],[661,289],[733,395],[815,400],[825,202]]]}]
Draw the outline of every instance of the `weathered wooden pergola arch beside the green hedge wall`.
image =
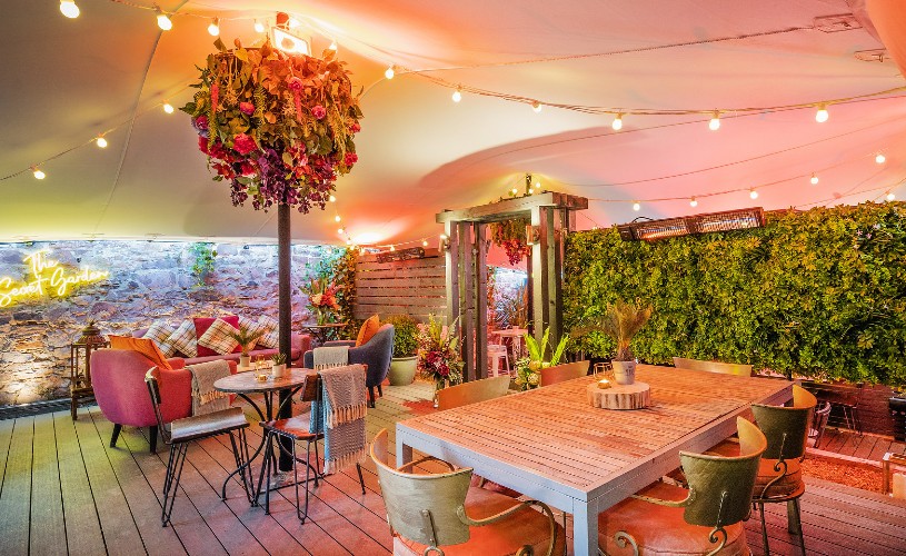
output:
[{"label": "weathered wooden pergola arch beside the green hedge wall", "polygon": [[447,317],[448,322],[460,319],[464,380],[488,375],[487,225],[531,218],[537,241],[528,259],[529,319],[538,339],[549,326],[550,341],[556,344],[564,332],[564,246],[576,229],[576,211],[587,208],[585,197],[545,191],[437,215],[448,238]]}]

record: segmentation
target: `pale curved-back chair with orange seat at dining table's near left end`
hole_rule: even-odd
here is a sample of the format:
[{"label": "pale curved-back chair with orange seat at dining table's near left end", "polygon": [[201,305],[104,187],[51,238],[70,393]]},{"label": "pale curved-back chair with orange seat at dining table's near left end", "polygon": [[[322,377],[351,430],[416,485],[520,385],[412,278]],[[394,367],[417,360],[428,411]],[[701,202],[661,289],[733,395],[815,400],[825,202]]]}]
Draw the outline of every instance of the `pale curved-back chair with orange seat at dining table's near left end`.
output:
[{"label": "pale curved-back chair with orange seat at dining table's near left end", "polygon": [[471,468],[417,475],[407,470],[412,463],[397,469],[388,465],[387,429],[375,437],[371,460],[397,556],[432,552],[447,556],[550,556],[564,550],[565,530],[546,504],[470,487]]}]

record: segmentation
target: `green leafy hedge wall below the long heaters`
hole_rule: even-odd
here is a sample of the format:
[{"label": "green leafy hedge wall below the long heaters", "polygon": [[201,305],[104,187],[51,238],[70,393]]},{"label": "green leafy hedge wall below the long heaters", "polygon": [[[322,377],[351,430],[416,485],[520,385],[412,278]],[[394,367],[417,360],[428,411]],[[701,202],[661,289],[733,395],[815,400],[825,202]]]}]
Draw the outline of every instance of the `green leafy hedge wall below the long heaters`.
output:
[{"label": "green leafy hedge wall below the long heaters", "polygon": [[[906,384],[904,203],[768,214],[765,228],[653,244],[624,241],[616,228],[577,232],[565,275],[567,329],[617,298],[651,304],[633,342],[648,363],[679,356]],[[579,347],[614,349],[597,334]]]}]

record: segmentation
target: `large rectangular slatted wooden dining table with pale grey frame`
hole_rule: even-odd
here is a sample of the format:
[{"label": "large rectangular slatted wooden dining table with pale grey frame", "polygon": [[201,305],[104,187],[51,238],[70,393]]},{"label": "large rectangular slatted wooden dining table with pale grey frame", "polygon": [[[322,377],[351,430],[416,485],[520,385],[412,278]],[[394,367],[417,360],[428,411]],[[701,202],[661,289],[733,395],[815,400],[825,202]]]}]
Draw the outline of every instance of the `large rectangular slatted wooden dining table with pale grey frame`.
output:
[{"label": "large rectangular slatted wooden dining table with pale grey frame", "polygon": [[793,383],[639,365],[644,409],[595,408],[596,377],[568,380],[397,424],[398,465],[412,450],[475,473],[574,516],[577,556],[596,555],[598,514],[736,431],[749,406],[779,405]]}]

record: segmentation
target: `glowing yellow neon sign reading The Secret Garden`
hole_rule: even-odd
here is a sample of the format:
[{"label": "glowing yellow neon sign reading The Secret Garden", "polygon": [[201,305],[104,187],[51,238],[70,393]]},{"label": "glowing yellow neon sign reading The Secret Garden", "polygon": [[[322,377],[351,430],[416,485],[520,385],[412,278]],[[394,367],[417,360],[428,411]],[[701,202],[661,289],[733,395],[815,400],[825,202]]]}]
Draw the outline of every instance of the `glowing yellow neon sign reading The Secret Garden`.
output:
[{"label": "glowing yellow neon sign reading The Secret Garden", "polygon": [[48,257],[50,249],[41,249],[26,257],[31,280],[14,282],[11,277],[0,278],[0,308],[9,307],[29,297],[63,297],[78,286],[106,280],[109,270],[94,270],[82,267],[76,274],[68,274],[60,261]]}]

